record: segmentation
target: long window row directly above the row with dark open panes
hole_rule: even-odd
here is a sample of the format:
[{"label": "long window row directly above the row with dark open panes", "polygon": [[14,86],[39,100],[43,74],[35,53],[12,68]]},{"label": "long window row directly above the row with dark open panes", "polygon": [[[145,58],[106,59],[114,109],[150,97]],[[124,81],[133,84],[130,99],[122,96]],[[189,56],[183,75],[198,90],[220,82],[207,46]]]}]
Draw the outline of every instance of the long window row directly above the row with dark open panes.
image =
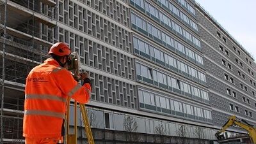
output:
[{"label": "long window row directly above the row with dark open panes", "polygon": [[[199,82],[206,83],[204,73],[192,68],[191,66],[188,66],[187,64],[184,64],[184,62],[175,59],[174,57],[162,52],[161,50],[158,50],[155,47],[152,47],[152,45],[149,45],[148,43],[145,43],[144,41],[141,41],[136,37],[133,37],[133,47],[134,52],[137,54],[141,54],[143,57],[155,61],[165,66],[166,68],[173,69],[174,71],[177,71],[182,75],[188,76],[193,80],[196,78],[196,80],[198,80]],[[190,52],[192,51],[190,50]],[[191,54],[194,55],[194,53]]]}]

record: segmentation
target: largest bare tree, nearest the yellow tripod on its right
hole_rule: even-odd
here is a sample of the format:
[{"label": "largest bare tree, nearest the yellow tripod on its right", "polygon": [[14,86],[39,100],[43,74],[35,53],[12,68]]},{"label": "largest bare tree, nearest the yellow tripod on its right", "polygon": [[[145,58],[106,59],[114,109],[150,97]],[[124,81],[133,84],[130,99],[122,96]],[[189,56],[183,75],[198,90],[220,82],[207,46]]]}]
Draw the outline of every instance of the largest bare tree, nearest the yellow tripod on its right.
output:
[{"label": "largest bare tree, nearest the yellow tripod on its right", "polygon": [[138,124],[137,124],[136,120],[131,116],[125,117],[125,119],[124,119],[124,131],[136,132],[137,129],[138,129]]}]

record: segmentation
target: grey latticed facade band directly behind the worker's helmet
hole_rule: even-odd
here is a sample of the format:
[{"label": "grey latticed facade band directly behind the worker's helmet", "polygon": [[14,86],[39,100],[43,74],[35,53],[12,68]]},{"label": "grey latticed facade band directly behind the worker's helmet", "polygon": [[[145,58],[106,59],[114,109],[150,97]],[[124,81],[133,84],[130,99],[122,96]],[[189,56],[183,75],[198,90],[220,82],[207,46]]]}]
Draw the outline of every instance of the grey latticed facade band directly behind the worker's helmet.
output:
[{"label": "grey latticed facade band directly behind the worker's helmet", "polygon": [[81,63],[86,66],[107,71],[113,75],[122,76],[134,80],[134,61],[131,57],[116,52],[112,48],[88,40],[73,32],[60,29],[60,39],[69,41],[72,51],[76,51],[81,58]]}]

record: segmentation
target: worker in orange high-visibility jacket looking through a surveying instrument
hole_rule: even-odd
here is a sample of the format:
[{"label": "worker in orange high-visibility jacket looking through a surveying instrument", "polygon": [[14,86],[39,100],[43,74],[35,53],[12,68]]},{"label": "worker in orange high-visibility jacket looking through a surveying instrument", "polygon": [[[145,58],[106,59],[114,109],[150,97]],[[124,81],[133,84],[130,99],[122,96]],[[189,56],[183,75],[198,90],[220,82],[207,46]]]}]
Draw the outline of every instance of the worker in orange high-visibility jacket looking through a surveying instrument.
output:
[{"label": "worker in orange high-visibility jacket looking through a surveying instrument", "polygon": [[67,70],[70,48],[55,43],[49,50],[51,58],[36,66],[26,78],[23,136],[26,144],[62,143],[67,98],[87,103],[91,94],[88,73],[81,73],[79,85]]}]

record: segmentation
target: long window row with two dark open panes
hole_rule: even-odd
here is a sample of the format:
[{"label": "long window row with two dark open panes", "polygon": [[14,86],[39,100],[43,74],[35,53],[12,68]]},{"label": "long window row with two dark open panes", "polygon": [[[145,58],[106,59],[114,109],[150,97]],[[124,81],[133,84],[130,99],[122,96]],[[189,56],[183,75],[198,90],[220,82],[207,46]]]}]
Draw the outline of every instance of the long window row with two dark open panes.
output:
[{"label": "long window row with two dark open panes", "polygon": [[209,103],[208,92],[136,62],[137,79]]}]

